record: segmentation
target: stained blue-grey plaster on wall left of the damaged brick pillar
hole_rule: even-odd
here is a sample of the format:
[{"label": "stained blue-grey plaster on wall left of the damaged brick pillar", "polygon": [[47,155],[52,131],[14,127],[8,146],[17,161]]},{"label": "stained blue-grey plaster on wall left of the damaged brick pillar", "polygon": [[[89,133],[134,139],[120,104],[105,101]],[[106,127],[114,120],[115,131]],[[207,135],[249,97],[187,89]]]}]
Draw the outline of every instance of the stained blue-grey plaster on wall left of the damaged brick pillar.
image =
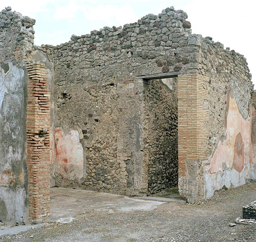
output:
[{"label": "stained blue-grey plaster on wall left of the damaged brick pillar", "polygon": [[27,221],[25,67],[9,61],[0,67],[0,221]]}]

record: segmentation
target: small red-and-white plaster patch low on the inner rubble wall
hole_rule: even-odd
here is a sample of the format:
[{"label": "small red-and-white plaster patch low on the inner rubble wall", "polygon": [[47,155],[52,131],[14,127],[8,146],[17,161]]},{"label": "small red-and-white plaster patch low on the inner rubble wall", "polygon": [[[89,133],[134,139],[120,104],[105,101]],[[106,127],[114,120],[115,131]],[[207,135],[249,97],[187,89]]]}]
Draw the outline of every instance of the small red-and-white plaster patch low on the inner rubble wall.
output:
[{"label": "small red-and-white plaster patch low on the inner rubble wall", "polygon": [[67,133],[55,129],[56,185],[65,186],[73,181],[81,183],[85,175],[83,147],[77,130]]}]

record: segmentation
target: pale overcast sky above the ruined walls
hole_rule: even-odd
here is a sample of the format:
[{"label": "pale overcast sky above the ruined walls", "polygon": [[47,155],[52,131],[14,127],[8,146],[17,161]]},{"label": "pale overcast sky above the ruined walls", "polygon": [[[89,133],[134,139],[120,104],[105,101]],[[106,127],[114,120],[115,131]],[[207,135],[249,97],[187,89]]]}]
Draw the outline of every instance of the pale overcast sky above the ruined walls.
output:
[{"label": "pale overcast sky above the ruined walls", "polygon": [[[136,22],[143,16],[158,14],[170,6],[182,9],[191,22],[192,33],[211,36],[214,41],[243,54],[256,84],[255,6],[253,0],[8,0],[0,8],[11,6],[36,19],[35,44],[60,44],[72,34],[88,34],[104,26]],[[255,25],[254,25],[255,21]],[[255,85],[256,87],[256,85]]]}]

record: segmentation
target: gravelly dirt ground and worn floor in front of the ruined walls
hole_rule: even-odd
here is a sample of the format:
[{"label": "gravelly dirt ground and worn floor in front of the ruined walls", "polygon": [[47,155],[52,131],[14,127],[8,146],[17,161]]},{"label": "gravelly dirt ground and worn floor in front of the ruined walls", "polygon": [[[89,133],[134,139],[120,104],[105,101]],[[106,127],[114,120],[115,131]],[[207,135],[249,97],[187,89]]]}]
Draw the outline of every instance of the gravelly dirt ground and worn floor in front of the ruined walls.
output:
[{"label": "gravelly dirt ground and worn floor in front of the ruined walls", "polygon": [[[80,198],[76,199],[72,195],[73,192],[79,192]],[[147,201],[142,203],[140,209],[136,209],[140,203],[137,200],[133,201],[117,195],[110,195],[109,198],[104,194],[97,196],[93,193],[92,197],[89,197],[90,206],[86,203],[85,206],[79,205],[76,209],[76,204],[83,204],[81,200],[81,197],[84,197],[83,192],[65,189],[53,193],[52,201],[54,199],[60,201],[56,207],[65,208],[65,199],[73,201],[66,209],[70,213],[64,211],[62,214],[63,218],[74,214],[72,222],[66,224],[52,222],[45,227],[0,237],[0,241],[256,241],[256,225],[229,226],[229,223],[242,216],[243,205],[256,200],[255,182],[239,188],[216,192],[213,198],[200,204],[189,205],[178,202],[154,204]],[[99,199],[101,196],[102,201]],[[75,200],[80,202],[75,202]],[[57,214],[59,213],[52,214],[52,219],[55,216],[58,220],[60,214],[58,216]]]}]

